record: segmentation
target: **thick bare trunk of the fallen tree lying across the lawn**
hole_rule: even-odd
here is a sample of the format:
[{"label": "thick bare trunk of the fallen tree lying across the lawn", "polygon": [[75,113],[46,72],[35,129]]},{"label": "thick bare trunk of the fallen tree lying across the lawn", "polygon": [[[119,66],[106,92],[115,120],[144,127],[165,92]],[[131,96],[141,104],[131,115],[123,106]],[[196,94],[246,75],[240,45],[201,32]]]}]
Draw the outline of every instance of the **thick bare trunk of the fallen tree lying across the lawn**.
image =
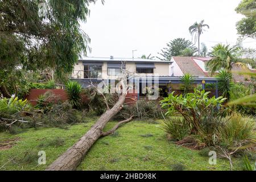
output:
[{"label": "thick bare trunk of the fallen tree lying across the lawn", "polygon": [[117,103],[112,109],[107,110],[98,121],[91,127],[91,129],[72,147],[70,147],[64,154],[59,156],[46,170],[47,171],[70,171],[75,170],[84,158],[86,152],[89,151],[93,143],[97,141],[104,133],[106,123],[122,109],[123,102],[125,102],[126,93],[122,93]]}]

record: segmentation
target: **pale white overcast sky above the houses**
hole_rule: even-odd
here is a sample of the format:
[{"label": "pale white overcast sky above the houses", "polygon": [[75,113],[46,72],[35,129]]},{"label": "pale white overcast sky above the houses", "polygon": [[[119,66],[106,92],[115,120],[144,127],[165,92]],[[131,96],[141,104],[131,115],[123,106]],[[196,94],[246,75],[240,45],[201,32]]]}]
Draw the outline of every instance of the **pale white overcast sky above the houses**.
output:
[{"label": "pale white overcast sky above the houses", "polygon": [[[188,27],[204,19],[210,26],[201,42],[210,49],[219,42],[235,44],[236,22],[243,16],[234,9],[241,0],[105,0],[90,5],[90,16],[82,29],[91,39],[94,57],[157,56],[175,38],[191,40]],[[197,44],[196,44],[197,45]],[[256,48],[246,39],[244,47]]]}]

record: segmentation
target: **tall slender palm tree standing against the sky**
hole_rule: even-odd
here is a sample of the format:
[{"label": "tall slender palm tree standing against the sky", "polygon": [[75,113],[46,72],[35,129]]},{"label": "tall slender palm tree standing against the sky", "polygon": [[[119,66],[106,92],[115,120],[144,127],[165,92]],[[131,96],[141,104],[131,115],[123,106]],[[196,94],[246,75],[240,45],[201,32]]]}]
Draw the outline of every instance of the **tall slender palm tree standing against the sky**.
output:
[{"label": "tall slender palm tree standing against the sky", "polygon": [[201,20],[200,23],[195,22],[188,28],[190,34],[195,36],[195,41],[198,39],[198,55],[200,55],[200,36],[205,31],[204,27],[210,28],[208,24],[204,24],[204,20]]}]

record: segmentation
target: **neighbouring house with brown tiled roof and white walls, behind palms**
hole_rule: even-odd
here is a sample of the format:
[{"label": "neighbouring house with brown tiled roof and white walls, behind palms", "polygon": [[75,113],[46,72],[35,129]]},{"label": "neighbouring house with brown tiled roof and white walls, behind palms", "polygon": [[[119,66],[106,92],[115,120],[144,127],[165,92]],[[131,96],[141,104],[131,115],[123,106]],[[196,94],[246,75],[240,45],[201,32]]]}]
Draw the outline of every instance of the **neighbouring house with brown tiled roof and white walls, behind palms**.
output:
[{"label": "neighbouring house with brown tiled roof and white walls, behind palms", "polygon": [[[171,76],[183,76],[185,73],[189,73],[194,77],[211,77],[212,75],[207,68],[208,61],[212,60],[212,57],[181,57],[173,56],[171,61]],[[234,65],[232,68],[232,77],[234,82],[250,82],[247,76],[240,75],[238,72],[242,72],[243,69],[239,65]],[[213,75],[216,75],[214,73]]]}]

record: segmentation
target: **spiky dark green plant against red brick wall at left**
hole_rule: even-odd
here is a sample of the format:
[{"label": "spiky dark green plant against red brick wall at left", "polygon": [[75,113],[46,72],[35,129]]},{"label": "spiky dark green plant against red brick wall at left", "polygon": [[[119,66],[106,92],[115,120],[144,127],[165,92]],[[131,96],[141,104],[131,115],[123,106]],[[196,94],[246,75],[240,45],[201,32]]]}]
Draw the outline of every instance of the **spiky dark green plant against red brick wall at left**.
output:
[{"label": "spiky dark green plant against red brick wall at left", "polygon": [[68,81],[65,90],[68,94],[68,100],[71,106],[75,109],[79,109],[81,106],[81,92],[82,86],[79,82],[76,81]]}]

